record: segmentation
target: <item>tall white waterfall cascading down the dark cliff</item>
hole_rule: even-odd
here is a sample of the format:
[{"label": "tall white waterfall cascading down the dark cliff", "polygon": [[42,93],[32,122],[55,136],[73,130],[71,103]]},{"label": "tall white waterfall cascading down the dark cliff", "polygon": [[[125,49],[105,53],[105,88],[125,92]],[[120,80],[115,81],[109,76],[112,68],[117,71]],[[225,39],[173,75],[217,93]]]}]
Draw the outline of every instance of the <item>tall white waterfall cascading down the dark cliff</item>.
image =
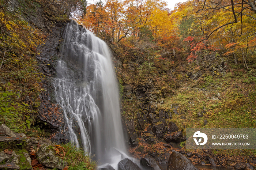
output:
[{"label": "tall white waterfall cascading down the dark cliff", "polygon": [[54,87],[70,140],[76,147],[82,143],[99,165],[108,163],[117,170],[127,155],[108,46],[72,20],[65,29],[61,57]]}]

